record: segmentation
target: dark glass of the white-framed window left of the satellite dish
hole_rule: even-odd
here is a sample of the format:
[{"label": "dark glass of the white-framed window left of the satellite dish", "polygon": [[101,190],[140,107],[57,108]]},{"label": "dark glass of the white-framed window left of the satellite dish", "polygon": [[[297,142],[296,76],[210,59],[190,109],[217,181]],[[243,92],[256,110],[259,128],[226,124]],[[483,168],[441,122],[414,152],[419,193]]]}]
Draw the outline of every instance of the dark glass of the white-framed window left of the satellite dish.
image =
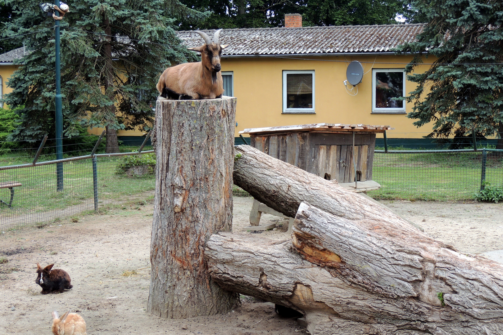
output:
[{"label": "dark glass of the white-framed window left of the satellite dish", "polygon": [[312,73],[287,73],[286,100],[287,108],[313,107]]}]

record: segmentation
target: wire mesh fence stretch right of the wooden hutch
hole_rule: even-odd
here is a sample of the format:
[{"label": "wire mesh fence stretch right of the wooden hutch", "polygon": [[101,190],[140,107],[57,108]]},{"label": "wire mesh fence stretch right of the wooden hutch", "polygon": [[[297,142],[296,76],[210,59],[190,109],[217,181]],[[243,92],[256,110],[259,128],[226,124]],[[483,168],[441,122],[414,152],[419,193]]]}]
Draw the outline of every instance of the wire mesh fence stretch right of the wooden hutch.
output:
[{"label": "wire mesh fence stretch right of the wooden hutch", "polygon": [[503,187],[503,152],[376,151],[372,179],[381,185],[374,198],[473,199],[484,183]]}]

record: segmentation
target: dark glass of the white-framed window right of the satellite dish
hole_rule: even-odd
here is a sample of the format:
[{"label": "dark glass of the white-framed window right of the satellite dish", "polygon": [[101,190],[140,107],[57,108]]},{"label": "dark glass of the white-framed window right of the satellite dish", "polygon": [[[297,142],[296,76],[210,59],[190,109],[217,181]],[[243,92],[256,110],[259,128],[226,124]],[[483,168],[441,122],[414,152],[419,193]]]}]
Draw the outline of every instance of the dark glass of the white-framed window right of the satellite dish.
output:
[{"label": "dark glass of the white-framed window right of the satellite dish", "polygon": [[375,107],[403,108],[403,71],[375,72]]}]

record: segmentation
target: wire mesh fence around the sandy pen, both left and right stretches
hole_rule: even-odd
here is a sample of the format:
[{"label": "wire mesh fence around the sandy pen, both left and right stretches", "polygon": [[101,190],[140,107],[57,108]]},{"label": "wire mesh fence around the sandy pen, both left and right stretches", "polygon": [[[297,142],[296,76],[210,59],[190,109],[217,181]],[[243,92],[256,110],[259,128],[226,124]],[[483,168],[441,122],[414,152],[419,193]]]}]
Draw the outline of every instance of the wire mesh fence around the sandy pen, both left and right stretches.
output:
[{"label": "wire mesh fence around the sandy pen, both left and right stretches", "polygon": [[[152,150],[58,162],[63,166],[62,190],[56,161],[0,167],[0,231],[44,227],[64,217],[153,199]],[[372,179],[381,184],[379,190],[368,192],[374,198],[473,199],[483,185],[503,188],[503,151],[376,150]],[[248,195],[237,186],[233,194]]]}]

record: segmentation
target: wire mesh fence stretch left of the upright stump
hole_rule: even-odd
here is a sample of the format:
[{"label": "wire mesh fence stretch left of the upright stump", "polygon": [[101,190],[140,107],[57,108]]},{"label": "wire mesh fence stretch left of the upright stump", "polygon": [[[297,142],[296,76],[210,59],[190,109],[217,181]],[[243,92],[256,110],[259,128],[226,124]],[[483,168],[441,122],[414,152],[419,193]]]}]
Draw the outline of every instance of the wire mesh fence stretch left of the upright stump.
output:
[{"label": "wire mesh fence stretch left of the upright stump", "polygon": [[63,165],[62,190],[58,190],[56,161],[0,167],[0,230],[42,227],[82,212],[153,199],[152,151],[100,154],[59,162]]}]

